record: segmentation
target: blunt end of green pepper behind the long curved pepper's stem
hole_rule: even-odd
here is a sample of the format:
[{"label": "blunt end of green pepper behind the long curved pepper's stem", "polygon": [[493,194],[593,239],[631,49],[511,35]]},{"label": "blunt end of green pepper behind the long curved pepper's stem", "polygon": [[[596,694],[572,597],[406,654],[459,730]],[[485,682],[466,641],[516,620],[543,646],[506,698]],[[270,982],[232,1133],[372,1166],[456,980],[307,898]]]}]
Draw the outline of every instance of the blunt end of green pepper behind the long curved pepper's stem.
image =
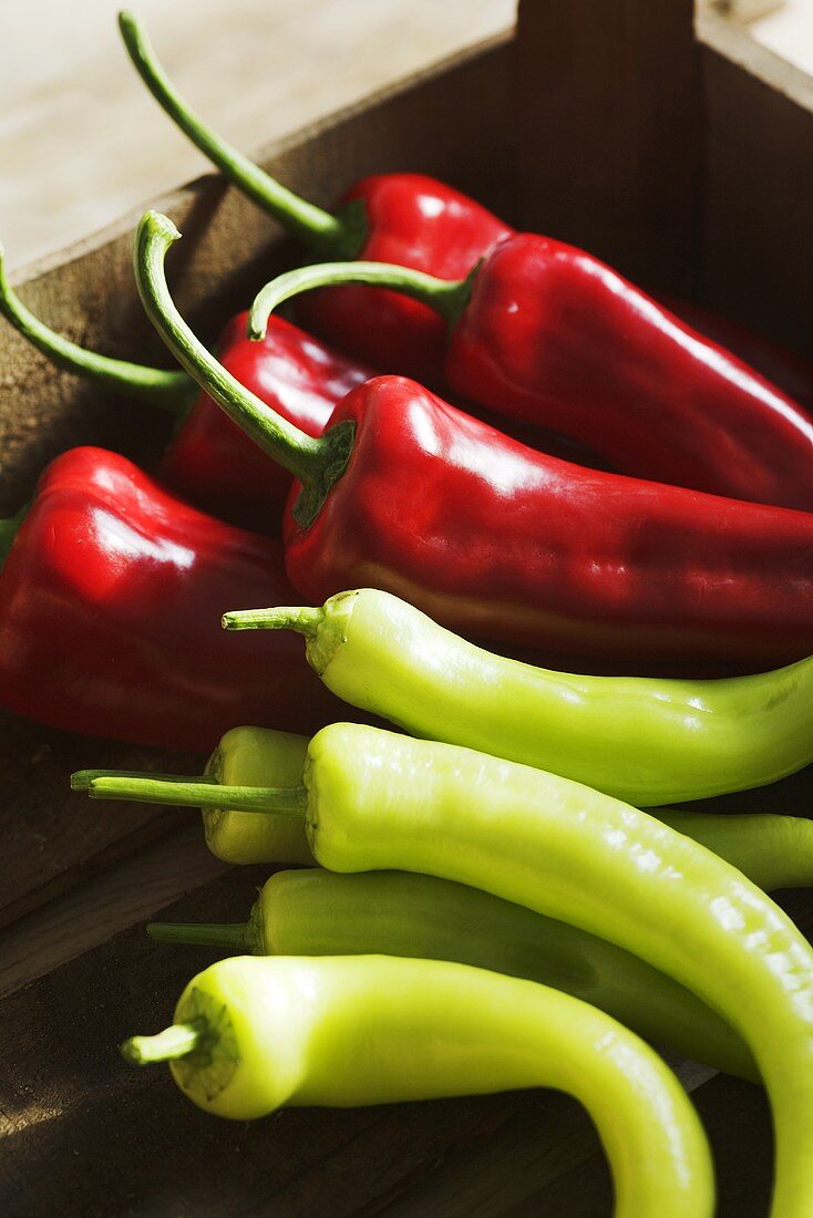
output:
[{"label": "blunt end of green pepper behind the long curved pepper's stem", "polygon": [[[223,786],[296,786],[302,777],[307,739],[266,727],[234,727],[206,765]],[[204,808],[206,844],[225,862],[313,862],[301,821],[256,816],[229,808]]]}]

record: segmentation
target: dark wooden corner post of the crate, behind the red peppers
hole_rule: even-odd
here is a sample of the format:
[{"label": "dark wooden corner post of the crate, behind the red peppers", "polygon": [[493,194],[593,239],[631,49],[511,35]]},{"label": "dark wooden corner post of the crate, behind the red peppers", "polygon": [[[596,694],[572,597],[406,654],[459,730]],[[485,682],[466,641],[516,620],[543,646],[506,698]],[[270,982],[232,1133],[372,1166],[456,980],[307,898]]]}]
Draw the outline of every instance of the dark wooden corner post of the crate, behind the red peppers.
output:
[{"label": "dark wooden corner post of the crate, behind the red peppers", "polygon": [[694,0],[520,0],[519,212],[633,279],[689,294],[700,255]]}]

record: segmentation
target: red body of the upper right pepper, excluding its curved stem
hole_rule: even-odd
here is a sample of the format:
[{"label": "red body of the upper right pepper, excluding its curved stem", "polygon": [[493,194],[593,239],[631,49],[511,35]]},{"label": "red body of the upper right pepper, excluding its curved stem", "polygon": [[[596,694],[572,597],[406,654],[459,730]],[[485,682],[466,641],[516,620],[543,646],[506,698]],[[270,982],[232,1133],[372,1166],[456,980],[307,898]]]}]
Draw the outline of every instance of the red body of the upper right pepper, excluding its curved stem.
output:
[{"label": "red body of the upper right pepper, excluding its curved stem", "polygon": [[452,390],[590,445],[613,468],[813,509],[813,424],[748,367],[596,258],[517,234],[451,333]]}]

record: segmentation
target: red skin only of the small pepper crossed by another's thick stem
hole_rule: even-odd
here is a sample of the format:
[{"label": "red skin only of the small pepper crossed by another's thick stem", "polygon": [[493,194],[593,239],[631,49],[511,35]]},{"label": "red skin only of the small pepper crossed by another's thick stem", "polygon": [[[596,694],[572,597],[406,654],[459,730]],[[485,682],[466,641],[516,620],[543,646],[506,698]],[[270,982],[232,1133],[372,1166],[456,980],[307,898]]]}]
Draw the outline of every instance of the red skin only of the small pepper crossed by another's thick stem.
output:
[{"label": "red skin only of the small pepper crossed by another's thick stem", "polygon": [[[240,313],[229,322],[218,345],[221,363],[308,436],[322,435],[336,402],[373,375],[282,317],[271,319],[262,342],[252,342],[246,320]],[[190,503],[258,532],[278,530],[291,486],[288,470],[269,460],[206,393],[176,431],[158,476]]]}]

